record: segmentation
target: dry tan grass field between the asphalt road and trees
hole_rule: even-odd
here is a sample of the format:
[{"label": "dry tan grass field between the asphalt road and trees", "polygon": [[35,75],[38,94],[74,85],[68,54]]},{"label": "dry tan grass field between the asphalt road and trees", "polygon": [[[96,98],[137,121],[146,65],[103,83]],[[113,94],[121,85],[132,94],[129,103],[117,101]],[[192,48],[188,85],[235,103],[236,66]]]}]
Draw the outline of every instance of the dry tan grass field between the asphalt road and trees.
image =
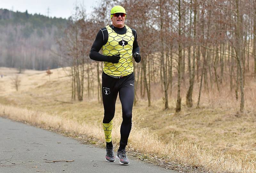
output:
[{"label": "dry tan grass field between the asphalt road and trees", "polygon": [[[103,106],[94,97],[84,95],[84,101],[71,101],[70,78],[63,69],[51,70],[51,80],[45,71],[0,68],[0,115],[88,135],[104,141],[101,122]],[[21,85],[16,91],[12,76],[19,75]],[[175,85],[174,85],[175,86]],[[255,172],[256,170],[256,79],[246,77],[245,111],[239,113],[239,101],[223,83],[220,92],[203,90],[200,109],[186,108],[186,87],[182,88],[182,111],[175,114],[175,87],[170,97],[170,109],[163,110],[159,87],[153,87],[152,106],[140,99],[133,108],[133,128],[129,147],[140,152],[156,154],[167,161],[204,167],[212,172]],[[198,86],[194,91],[197,99]],[[84,92],[86,94],[86,91]],[[63,103],[59,101],[72,102]],[[194,103],[196,105],[196,103]],[[118,142],[121,104],[117,101],[114,118],[114,142]]]}]

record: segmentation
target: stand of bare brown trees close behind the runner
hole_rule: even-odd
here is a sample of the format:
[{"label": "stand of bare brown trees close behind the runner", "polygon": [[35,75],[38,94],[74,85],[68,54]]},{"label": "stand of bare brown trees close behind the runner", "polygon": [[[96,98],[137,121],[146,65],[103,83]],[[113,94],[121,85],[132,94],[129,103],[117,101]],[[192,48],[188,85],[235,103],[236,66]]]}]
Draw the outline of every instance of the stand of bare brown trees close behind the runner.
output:
[{"label": "stand of bare brown trees close behind the runner", "polygon": [[[203,90],[208,97],[209,93],[214,96],[216,90],[219,93],[225,90],[232,93],[228,98],[239,103],[233,106],[244,111],[245,77],[252,77],[256,72],[254,1],[130,0],[118,3],[127,11],[126,24],[138,33],[142,56],[141,63],[134,63],[138,83],[135,105],[139,98],[147,98],[150,106],[152,99],[159,98],[152,96],[152,91],[161,90],[164,108],[169,108],[172,96],[176,97],[175,110],[180,112],[182,97],[187,107],[199,108]],[[59,40],[62,62],[73,66],[72,74],[77,75],[73,77],[72,98],[75,93],[78,100],[82,100],[81,88],[85,87],[86,78],[87,96],[90,95],[92,78],[89,76],[96,73],[92,69],[98,71],[100,98],[102,63],[90,61],[88,54],[99,29],[111,24],[109,11],[114,4],[116,2],[103,1],[89,15],[83,7],[77,7],[65,36]],[[195,87],[196,98],[192,100]]]}]

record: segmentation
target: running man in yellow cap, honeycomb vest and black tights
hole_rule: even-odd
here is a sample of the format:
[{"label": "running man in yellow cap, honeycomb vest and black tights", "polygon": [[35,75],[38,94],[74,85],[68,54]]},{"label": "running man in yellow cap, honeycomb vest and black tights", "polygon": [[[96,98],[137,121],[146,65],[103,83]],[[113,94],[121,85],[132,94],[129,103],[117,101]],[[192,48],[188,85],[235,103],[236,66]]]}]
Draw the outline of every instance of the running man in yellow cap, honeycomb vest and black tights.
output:
[{"label": "running man in yellow cap, honeycomb vest and black tights", "polygon": [[[124,25],[126,12],[124,7],[111,9],[112,25],[101,28],[92,44],[90,58],[103,61],[102,100],[104,106],[103,130],[106,139],[106,161],[115,162],[112,144],[112,119],[115,115],[116,98],[122,104],[123,122],[121,124],[120,146],[116,158],[121,164],[129,164],[125,147],[132,128],[132,106],[134,100],[134,74],[132,57],[138,63],[141,60],[136,30]],[[99,53],[102,49],[103,55]]]}]

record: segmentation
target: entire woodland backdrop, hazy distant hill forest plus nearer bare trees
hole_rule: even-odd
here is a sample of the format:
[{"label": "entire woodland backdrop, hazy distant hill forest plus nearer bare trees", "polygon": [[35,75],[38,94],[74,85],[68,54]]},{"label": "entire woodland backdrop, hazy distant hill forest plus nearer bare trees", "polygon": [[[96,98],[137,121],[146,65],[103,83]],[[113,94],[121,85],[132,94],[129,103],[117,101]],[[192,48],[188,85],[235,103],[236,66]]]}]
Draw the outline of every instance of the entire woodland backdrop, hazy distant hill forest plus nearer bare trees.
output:
[{"label": "entire woodland backdrop, hazy distant hill forest plus nearer bare trees", "polygon": [[[164,108],[169,108],[169,97],[177,90],[175,109],[179,112],[184,93],[186,106],[193,106],[194,85],[199,83],[196,107],[202,90],[220,92],[224,87],[234,93],[243,112],[245,74],[256,72],[254,1],[102,1],[90,14],[76,6],[68,20],[1,9],[1,66],[20,71],[76,66],[72,98],[77,95],[78,100],[82,100],[86,78],[90,95],[89,80],[93,79],[88,76],[97,69],[100,99],[102,63],[91,61],[88,54],[99,29],[111,24],[109,11],[117,3],[127,11],[126,24],[138,33],[142,61],[135,64],[139,84],[135,104],[146,97],[150,106],[154,97],[151,87],[160,82]],[[182,85],[186,90],[181,92]]]}]

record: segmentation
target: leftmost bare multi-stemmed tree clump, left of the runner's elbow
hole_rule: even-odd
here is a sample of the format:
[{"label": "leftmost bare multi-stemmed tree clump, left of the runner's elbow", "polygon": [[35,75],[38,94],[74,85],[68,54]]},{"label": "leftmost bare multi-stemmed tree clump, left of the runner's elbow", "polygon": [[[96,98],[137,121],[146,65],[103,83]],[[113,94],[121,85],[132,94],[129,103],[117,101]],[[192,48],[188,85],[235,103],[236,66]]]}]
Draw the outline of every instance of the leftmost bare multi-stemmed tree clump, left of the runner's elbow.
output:
[{"label": "leftmost bare multi-stemmed tree clump, left of the runner's elbow", "polygon": [[[89,59],[88,56],[86,57],[88,44],[84,39],[87,35],[85,32],[88,32],[89,28],[84,28],[85,23],[85,11],[76,6],[76,12],[69,19],[68,28],[65,30],[65,37],[58,41],[67,63],[71,66],[72,99],[77,96],[79,101],[83,100],[84,93],[84,63]],[[87,69],[87,73],[89,73],[89,69]]]}]

